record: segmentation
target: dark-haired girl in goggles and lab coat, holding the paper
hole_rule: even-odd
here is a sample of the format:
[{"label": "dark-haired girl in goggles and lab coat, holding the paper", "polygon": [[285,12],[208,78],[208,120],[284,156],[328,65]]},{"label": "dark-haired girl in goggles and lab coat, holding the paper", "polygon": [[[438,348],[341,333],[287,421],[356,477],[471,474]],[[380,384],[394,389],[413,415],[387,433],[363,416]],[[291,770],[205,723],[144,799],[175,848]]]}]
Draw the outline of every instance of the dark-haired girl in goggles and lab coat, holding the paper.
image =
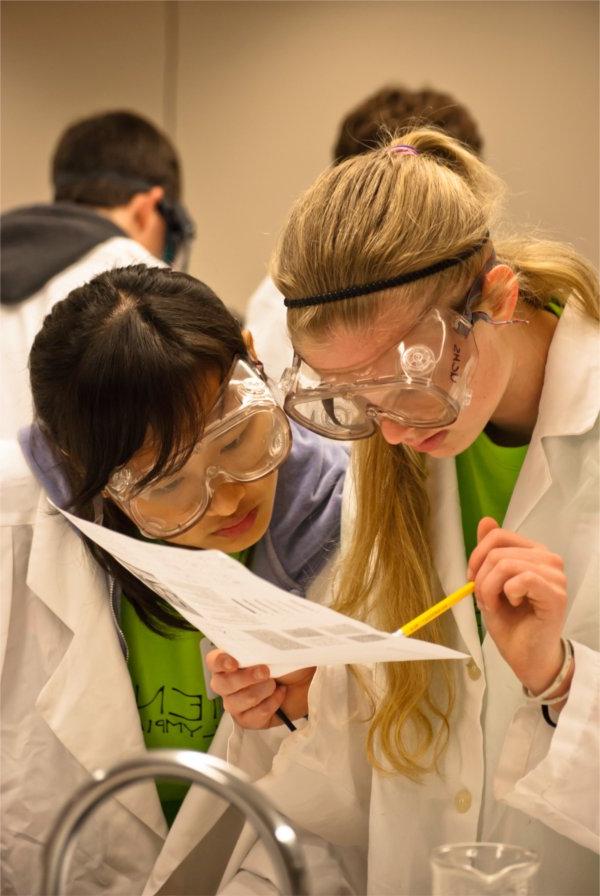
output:
[{"label": "dark-haired girl in goggles and lab coat, holding the paper", "polygon": [[[206,690],[201,633],[47,498],[133,538],[224,551],[318,598],[347,462],[340,446],[290,428],[250,335],[212,290],[166,268],[107,271],[71,292],[36,336],[30,370],[36,422],[20,449],[0,442],[1,889],[18,896],[40,891],[56,813],[96,768],[144,747],[224,756],[230,730]],[[284,698],[288,715],[304,713],[302,673],[282,687],[255,671],[249,694],[265,718]],[[69,892],[215,892],[237,814],[203,789],[157,786],[93,814]]]}]

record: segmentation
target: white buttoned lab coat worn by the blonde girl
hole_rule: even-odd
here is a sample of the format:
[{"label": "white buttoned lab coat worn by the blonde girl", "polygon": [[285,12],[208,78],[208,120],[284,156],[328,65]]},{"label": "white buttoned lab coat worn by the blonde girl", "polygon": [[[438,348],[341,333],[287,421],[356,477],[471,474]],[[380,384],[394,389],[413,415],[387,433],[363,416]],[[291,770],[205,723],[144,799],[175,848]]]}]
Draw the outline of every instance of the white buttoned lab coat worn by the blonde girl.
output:
[{"label": "white buttoned lab coat worn by the blonde girl", "polygon": [[[354,878],[358,893],[429,894],[430,850],[474,840],[537,850],[543,896],[598,893],[598,374],[597,329],[567,308],[504,521],[565,561],[565,635],[574,644],[576,671],[558,727],[526,703],[491,638],[480,645],[473,606],[465,600],[452,611],[452,646],[471,659],[459,670],[459,703],[441,775],[416,784],[372,770],[364,754],[367,725],[357,720],[368,715],[362,691],[336,667],[318,670],[308,724],[286,739],[258,782],[292,821],[362,856],[364,877]],[[466,578],[453,459],[432,463],[431,500],[436,566],[449,593]],[[376,677],[378,670],[368,674]],[[230,761],[242,750],[247,755],[255,737],[236,728]],[[251,842],[245,831],[224,893],[275,892]],[[232,880],[240,864],[246,870]]]}]

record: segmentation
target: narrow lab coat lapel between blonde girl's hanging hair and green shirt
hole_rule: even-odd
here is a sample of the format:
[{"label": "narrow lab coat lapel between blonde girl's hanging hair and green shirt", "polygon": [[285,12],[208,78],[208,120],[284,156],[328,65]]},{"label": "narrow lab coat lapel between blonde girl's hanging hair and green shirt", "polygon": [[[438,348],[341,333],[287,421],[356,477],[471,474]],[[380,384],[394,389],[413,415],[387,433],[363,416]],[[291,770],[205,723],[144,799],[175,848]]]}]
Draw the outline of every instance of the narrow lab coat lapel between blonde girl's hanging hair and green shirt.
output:
[{"label": "narrow lab coat lapel between blonde girl's hanging hair and green shirt", "polygon": [[[443,594],[451,594],[467,581],[456,465],[453,457],[433,460],[429,471],[429,500],[433,559]],[[440,594],[440,598],[443,596]],[[481,644],[472,598],[452,608],[452,615],[468,653],[481,664]]]}]

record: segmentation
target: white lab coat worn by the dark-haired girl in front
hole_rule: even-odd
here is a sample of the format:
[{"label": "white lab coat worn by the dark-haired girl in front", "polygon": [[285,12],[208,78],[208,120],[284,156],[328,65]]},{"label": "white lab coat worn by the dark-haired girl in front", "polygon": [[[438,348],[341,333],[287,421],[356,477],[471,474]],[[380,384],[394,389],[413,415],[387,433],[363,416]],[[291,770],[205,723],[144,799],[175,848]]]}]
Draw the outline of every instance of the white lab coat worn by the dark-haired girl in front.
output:
[{"label": "white lab coat worn by the dark-haired girl in front", "polygon": [[[51,513],[16,442],[0,442],[2,893],[38,893],[41,850],[75,788],[144,752],[107,577]],[[308,596],[325,587],[329,569]],[[224,756],[225,715],[209,752]],[[244,766],[243,757],[238,763]],[[82,829],[68,892],[215,892],[239,831],[234,810],[188,792],[170,832],[152,782],[121,790]]]}]

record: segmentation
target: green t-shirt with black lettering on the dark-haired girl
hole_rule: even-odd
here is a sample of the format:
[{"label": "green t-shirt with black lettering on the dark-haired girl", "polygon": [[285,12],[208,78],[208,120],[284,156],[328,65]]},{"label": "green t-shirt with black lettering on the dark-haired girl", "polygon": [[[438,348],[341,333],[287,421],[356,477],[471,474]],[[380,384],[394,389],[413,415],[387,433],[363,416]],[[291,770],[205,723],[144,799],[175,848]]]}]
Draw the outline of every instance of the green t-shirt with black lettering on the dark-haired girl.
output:
[{"label": "green t-shirt with black lettering on the dark-haired girl", "polygon": [[[248,555],[247,550],[231,556],[245,564]],[[146,747],[204,753],[223,715],[223,703],[206,695],[202,634],[175,626],[168,629],[170,638],[156,634],[140,620],[125,595],[121,628]],[[161,779],[156,786],[170,827],[190,785]]]}]

